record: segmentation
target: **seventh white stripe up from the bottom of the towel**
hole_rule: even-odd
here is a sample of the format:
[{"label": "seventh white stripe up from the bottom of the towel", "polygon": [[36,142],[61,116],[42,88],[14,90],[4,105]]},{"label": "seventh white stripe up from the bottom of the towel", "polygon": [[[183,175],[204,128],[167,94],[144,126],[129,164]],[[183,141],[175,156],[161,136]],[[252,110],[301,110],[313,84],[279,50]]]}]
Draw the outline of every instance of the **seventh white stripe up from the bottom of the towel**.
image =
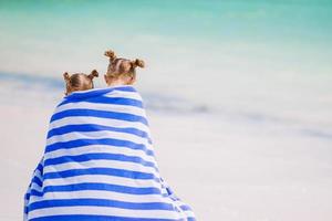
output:
[{"label": "seventh white stripe up from the bottom of the towel", "polygon": [[118,128],[135,128],[143,130],[147,133],[149,137],[149,129],[148,127],[139,122],[127,122],[127,120],[121,120],[121,119],[110,119],[110,118],[100,118],[100,117],[86,117],[86,116],[80,116],[80,117],[64,117],[58,120],[54,120],[50,125],[50,129],[68,126],[68,125],[80,125],[80,124],[96,124],[102,126],[112,126],[112,127],[118,127]]}]

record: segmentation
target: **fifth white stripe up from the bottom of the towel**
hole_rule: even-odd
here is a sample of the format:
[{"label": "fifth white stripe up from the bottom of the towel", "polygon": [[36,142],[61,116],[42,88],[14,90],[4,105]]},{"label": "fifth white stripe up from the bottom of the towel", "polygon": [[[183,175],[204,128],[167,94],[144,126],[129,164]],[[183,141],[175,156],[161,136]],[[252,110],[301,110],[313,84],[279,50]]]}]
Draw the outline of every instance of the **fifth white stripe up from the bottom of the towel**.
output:
[{"label": "fifth white stripe up from the bottom of the towel", "polygon": [[125,147],[114,147],[110,145],[89,145],[77,148],[58,149],[51,152],[44,154],[44,160],[63,157],[63,156],[79,156],[85,154],[116,154],[125,155],[128,157],[141,157],[145,161],[149,161],[156,165],[153,156],[146,155],[142,149],[131,149]]}]

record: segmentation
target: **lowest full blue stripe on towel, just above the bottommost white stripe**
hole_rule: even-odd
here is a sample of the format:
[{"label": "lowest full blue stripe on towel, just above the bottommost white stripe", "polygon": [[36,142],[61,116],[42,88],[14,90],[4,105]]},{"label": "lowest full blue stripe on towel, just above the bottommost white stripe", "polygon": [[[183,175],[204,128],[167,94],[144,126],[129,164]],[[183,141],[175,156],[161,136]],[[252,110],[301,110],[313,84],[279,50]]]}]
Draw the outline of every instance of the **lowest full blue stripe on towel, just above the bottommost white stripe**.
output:
[{"label": "lowest full blue stripe on towel, just above the bottommost white stripe", "polygon": [[29,211],[54,208],[54,207],[111,207],[129,210],[174,210],[174,207],[165,202],[125,202],[118,200],[80,198],[80,199],[56,199],[33,202],[29,206]]}]

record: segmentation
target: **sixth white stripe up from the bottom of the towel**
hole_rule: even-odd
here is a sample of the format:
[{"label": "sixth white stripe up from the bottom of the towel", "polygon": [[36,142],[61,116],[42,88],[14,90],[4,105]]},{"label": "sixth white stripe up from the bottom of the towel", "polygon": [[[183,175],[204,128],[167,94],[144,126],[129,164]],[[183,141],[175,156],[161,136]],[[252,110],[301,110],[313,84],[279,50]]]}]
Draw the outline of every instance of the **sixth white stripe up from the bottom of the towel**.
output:
[{"label": "sixth white stripe up from the bottom of the towel", "polygon": [[75,139],[104,139],[113,138],[121,139],[125,141],[133,141],[138,145],[144,145],[147,149],[153,150],[151,144],[148,144],[146,138],[142,138],[132,134],[111,131],[111,130],[98,130],[98,131],[72,131],[63,135],[56,135],[46,140],[46,145],[53,145],[55,143],[71,141]]}]

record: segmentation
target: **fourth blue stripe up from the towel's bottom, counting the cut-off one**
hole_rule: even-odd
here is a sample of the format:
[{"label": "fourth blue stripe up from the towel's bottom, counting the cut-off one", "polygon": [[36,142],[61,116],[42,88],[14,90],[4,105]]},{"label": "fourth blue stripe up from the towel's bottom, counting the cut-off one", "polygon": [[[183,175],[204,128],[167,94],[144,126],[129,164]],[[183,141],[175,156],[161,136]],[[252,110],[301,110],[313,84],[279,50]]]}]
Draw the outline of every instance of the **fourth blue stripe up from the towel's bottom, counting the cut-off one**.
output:
[{"label": "fourth blue stripe up from the towel's bottom, counting the cut-off one", "polygon": [[125,177],[131,179],[155,180],[156,182],[159,182],[159,179],[153,173],[138,172],[138,171],[132,171],[125,169],[103,168],[103,167],[86,168],[86,169],[70,169],[70,170],[58,171],[58,172],[46,172],[44,173],[44,180],[76,177],[83,175],[107,175],[107,176],[115,176],[115,177]]}]

